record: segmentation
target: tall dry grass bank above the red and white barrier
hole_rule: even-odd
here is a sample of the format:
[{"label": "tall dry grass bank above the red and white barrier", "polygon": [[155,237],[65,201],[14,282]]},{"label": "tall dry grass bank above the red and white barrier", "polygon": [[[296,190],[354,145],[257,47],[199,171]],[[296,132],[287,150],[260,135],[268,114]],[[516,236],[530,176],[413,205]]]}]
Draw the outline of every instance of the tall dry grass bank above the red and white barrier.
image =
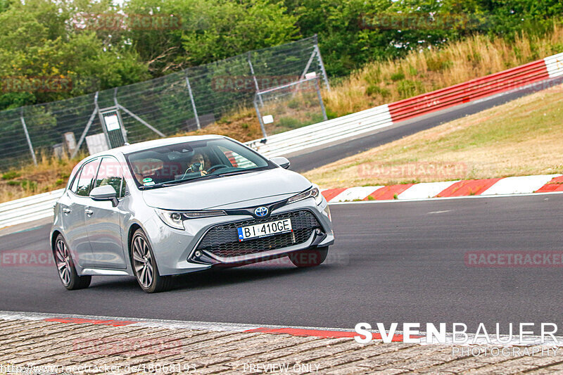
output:
[{"label": "tall dry grass bank above the red and white barrier", "polygon": [[376,62],[323,94],[339,116],[467,82],[563,51],[563,27],[544,37],[514,42],[475,36],[440,50],[412,51],[397,61]]}]

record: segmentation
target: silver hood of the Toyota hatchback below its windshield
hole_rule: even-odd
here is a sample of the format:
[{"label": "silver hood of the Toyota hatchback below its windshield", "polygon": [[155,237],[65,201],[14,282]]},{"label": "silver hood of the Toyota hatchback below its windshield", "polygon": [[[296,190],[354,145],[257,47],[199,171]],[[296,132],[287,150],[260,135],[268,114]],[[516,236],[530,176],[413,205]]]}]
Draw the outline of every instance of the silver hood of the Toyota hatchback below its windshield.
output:
[{"label": "silver hood of the Toyota hatchback below its windshield", "polygon": [[234,209],[281,201],[312,184],[296,172],[274,168],[142,191],[147,205],[164,210]]}]

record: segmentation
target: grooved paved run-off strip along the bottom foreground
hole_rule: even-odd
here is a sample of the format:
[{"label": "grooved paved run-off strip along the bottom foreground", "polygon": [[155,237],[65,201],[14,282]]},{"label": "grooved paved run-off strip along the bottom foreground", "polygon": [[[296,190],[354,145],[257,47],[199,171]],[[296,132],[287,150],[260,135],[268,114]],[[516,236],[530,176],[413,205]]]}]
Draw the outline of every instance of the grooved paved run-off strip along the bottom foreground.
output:
[{"label": "grooved paved run-off strip along the bottom foreground", "polygon": [[360,344],[350,337],[116,325],[0,320],[0,374],[563,372],[563,348]]}]

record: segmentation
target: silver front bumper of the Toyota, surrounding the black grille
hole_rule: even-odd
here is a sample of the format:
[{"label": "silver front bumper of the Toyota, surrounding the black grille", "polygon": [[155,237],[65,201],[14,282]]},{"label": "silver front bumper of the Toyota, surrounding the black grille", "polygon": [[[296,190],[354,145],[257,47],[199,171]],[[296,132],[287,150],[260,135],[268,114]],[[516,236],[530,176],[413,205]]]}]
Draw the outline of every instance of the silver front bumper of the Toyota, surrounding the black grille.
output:
[{"label": "silver front bumper of the Toyota, surrounding the black grille", "polygon": [[[184,221],[184,231],[173,229],[163,224],[158,218],[152,218],[145,223],[148,239],[153,246],[158,269],[161,275],[184,274],[196,272],[210,267],[246,265],[273,258],[279,258],[295,251],[306,248],[330,246],[334,243],[334,232],[329,217],[327,202],[323,199],[320,205],[314,198],[291,203],[272,210],[271,215],[280,215],[285,212],[308,210],[315,215],[319,223],[317,230],[313,230],[308,239],[296,245],[262,250],[257,253],[235,256],[221,256],[211,251],[198,251],[201,240],[213,227],[232,222],[241,222],[253,219],[249,215],[227,215],[208,217]],[[281,236],[281,235],[278,235]],[[196,254],[197,253],[197,254]]]}]

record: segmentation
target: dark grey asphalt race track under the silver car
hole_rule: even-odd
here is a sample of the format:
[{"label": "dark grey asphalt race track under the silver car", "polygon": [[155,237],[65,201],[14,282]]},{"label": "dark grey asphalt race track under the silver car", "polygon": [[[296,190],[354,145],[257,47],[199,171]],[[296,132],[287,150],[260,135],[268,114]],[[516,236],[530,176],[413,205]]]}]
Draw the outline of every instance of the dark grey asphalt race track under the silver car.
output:
[{"label": "dark grey asphalt race track under the silver car", "polygon": [[[54,266],[0,267],[0,310],[352,329],[358,322],[555,322],[563,269],[467,267],[467,251],[561,251],[563,194],[332,205],[327,264],[252,265],[177,277],[147,295],[132,277],[66,291]],[[0,238],[48,250],[49,226]],[[0,255],[1,255],[0,254]],[[536,330],[536,333],[538,330]]]}]

